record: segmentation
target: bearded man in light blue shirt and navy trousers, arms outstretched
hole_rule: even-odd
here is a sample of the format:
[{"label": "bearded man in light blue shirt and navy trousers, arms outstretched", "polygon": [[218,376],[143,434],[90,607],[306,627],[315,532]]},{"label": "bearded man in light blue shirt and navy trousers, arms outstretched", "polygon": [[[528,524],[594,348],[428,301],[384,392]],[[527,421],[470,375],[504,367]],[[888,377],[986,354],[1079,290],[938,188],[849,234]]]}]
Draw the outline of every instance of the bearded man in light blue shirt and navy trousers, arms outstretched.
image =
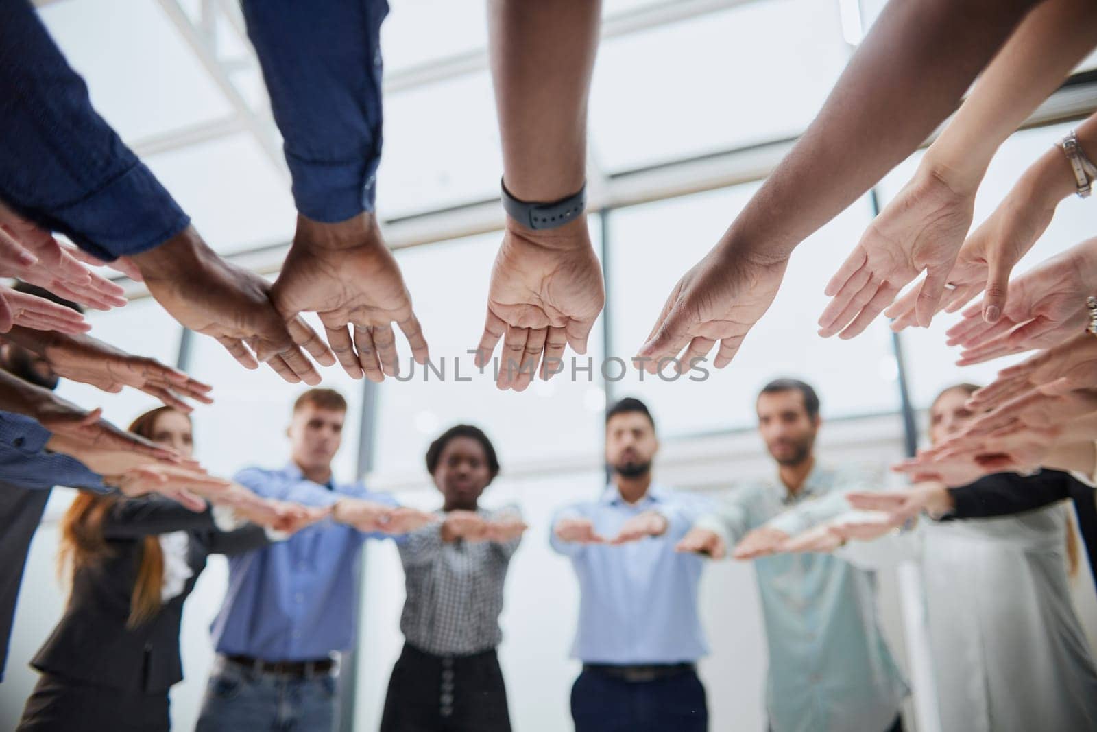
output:
[{"label": "bearded man in light blue shirt and navy trousers, arms outstretched", "polygon": [[698,618],[702,561],[675,552],[706,504],[657,485],[659,443],[640,399],[606,419],[613,481],[601,497],[557,511],[552,547],[579,578],[579,627],[572,655],[583,673],[572,689],[576,732],[703,732],[704,687],[694,664],[708,647]]}]

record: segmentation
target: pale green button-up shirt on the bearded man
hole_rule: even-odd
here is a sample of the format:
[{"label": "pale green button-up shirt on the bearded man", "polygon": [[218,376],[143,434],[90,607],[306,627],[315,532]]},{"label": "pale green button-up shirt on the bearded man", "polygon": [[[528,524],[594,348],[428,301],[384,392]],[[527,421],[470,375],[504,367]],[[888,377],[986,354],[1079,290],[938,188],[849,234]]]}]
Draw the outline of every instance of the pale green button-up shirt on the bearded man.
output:
[{"label": "pale green button-up shirt on the bearded man", "polygon": [[[795,536],[834,516],[849,491],[883,477],[816,466],[795,496],[780,481],[736,487],[697,526],[728,551],[762,525]],[[883,732],[909,689],[877,618],[875,577],[829,554],[755,560],[769,645],[767,707],[772,732]]]}]

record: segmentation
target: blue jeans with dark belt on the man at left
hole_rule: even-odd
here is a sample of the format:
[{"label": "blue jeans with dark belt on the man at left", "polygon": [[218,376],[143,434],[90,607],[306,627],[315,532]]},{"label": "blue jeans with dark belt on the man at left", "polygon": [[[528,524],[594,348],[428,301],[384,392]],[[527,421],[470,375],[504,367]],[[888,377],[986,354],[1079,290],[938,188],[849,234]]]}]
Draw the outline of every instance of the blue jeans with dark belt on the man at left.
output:
[{"label": "blue jeans with dark belt on the man at left", "polygon": [[218,656],[195,732],[331,732],[336,677],[258,673]]}]

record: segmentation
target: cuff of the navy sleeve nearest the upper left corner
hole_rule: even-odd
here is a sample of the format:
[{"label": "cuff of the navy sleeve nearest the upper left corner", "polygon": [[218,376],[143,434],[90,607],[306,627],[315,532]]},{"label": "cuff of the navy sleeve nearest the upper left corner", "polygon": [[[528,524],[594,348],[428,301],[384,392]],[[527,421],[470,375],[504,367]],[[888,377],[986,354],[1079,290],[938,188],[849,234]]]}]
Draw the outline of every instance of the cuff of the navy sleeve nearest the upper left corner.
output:
[{"label": "cuff of the navy sleeve nearest the upper left corner", "polygon": [[94,193],[52,209],[49,217],[81,249],[106,261],[152,249],[191,223],[143,162]]}]

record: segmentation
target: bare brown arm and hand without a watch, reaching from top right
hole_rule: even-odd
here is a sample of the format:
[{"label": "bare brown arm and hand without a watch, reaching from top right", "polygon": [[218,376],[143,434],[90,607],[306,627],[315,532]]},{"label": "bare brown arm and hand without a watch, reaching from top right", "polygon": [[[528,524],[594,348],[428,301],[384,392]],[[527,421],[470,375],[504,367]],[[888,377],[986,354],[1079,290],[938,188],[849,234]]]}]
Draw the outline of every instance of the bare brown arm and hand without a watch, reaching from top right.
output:
[{"label": "bare brown arm and hand without a watch, reaching from top right", "polygon": [[[772,303],[792,250],[957,109],[975,76],[1034,4],[889,3],[800,140],[712,251],[671,292],[637,353],[651,359],[643,368],[654,373],[660,359],[687,346],[681,361],[688,363],[705,356],[716,341],[713,365],[730,363]],[[938,280],[935,288],[943,290],[943,275]],[[871,284],[866,273],[864,286]],[[870,301],[890,303],[892,289],[878,282]],[[936,302],[941,293],[928,294]]]}]

